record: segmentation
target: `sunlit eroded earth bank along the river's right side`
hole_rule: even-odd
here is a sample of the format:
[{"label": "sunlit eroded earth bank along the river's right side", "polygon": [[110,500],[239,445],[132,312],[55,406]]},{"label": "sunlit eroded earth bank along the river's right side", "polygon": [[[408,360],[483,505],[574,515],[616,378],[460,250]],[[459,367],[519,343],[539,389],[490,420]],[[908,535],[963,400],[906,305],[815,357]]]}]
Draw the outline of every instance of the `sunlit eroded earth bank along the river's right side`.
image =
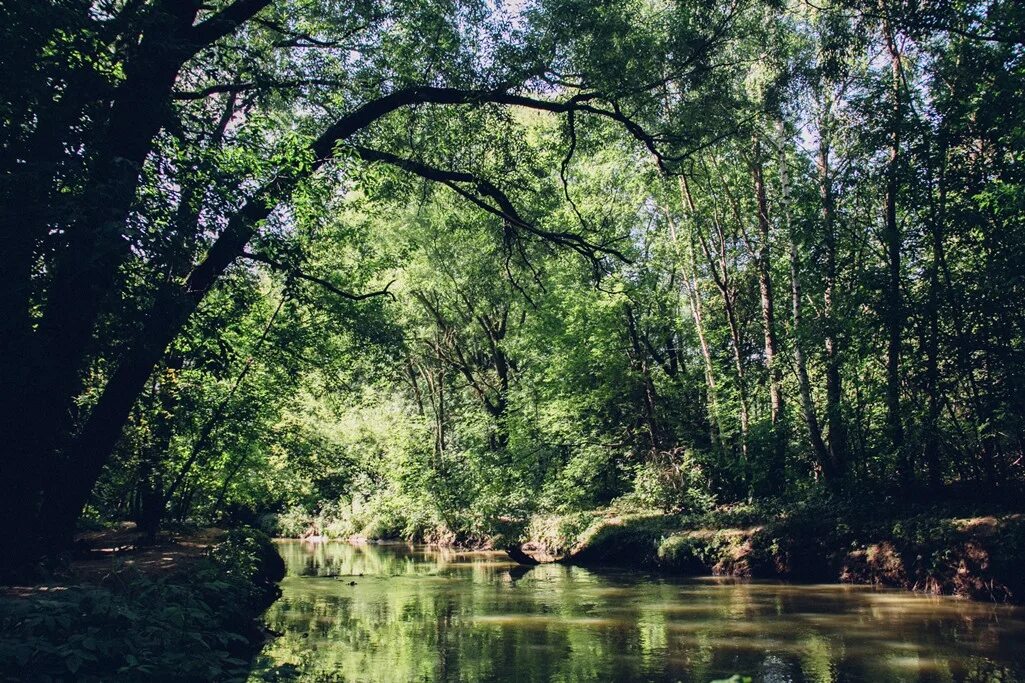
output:
[{"label": "sunlit eroded earth bank along the river's right side", "polygon": [[804,504],[701,515],[615,510],[535,518],[539,562],[795,581],[869,584],[1025,602],[1025,515]]}]

